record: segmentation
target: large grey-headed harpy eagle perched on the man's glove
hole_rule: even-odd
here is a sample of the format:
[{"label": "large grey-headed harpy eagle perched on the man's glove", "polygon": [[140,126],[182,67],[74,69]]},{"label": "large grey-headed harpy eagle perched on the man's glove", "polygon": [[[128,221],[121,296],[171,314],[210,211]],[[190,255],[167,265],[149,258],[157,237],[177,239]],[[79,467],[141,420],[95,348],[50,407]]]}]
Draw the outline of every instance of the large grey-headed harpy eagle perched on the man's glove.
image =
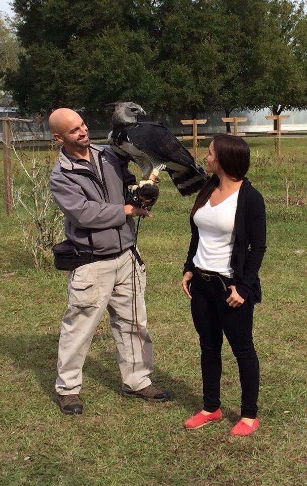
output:
[{"label": "large grey-headed harpy eagle perched on the man's glove", "polygon": [[198,192],[208,175],[189,151],[163,125],[137,117],[145,115],[141,106],[109,103],[112,131],[108,141],[114,152],[129,157],[142,171],[144,184],[153,184],[160,171],[167,171],[182,196]]}]

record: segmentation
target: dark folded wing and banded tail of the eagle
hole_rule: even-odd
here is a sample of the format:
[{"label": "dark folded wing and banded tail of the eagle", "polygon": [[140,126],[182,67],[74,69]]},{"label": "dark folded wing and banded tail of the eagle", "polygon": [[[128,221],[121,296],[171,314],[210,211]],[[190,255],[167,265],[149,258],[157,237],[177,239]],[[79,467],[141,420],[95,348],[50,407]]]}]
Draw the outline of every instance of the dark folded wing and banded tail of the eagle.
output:
[{"label": "dark folded wing and banded tail of the eagle", "polygon": [[158,170],[166,170],[181,195],[198,192],[208,174],[163,125],[143,122],[127,130],[129,142],[146,154]]}]

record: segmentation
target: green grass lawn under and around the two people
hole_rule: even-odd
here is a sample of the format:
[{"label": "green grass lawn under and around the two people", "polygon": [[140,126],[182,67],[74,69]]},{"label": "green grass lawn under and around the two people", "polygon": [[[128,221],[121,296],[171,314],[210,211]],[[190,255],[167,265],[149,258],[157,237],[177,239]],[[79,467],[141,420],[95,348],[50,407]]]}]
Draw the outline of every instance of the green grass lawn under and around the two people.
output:
[{"label": "green grass lawn under and around the two people", "polygon": [[[164,404],[120,395],[116,353],[104,316],[84,366],[84,414],[60,413],[53,396],[66,275],[33,270],[17,220],[6,218],[1,201],[0,484],[306,484],[307,139],[283,139],[280,161],[270,155],[272,140],[247,141],[258,153],[248,176],[264,195],[267,209],[267,253],[260,273],[263,303],[256,306],[254,320],[261,372],[258,431],[247,438],[229,436],[239,417],[240,386],[226,342],[223,420],[196,431],[183,428],[202,408],[200,350],[180,286],[194,199],[181,198],[167,174],[162,174],[153,218],[141,221],[139,234],[147,266],[154,381],[173,395]],[[201,147],[200,158],[204,153]]]}]

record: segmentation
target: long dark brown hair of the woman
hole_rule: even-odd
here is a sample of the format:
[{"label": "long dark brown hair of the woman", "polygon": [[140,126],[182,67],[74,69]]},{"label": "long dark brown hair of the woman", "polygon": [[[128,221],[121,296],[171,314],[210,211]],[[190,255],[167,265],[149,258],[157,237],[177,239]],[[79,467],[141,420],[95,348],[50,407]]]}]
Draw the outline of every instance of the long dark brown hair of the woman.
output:
[{"label": "long dark brown hair of the woman", "polygon": [[[247,143],[234,135],[217,135],[213,139],[216,159],[223,171],[236,181],[241,181],[249,169],[250,151]],[[214,189],[219,185],[216,174],[208,179],[195,199],[191,216],[207,203]]]}]

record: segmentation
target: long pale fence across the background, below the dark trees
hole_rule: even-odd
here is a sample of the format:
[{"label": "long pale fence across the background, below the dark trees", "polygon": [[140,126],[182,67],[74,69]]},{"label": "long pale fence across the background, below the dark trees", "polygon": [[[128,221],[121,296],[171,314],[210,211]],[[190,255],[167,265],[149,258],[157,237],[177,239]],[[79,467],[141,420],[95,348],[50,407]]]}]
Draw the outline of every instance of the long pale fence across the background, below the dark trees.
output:
[{"label": "long pale fence across the background, below the dark trees", "polygon": [[[11,109],[10,111],[5,111],[4,108],[0,108],[1,117],[19,117],[17,108]],[[107,114],[100,113],[81,113],[85,120],[89,130],[91,138],[101,139],[106,138],[110,131],[109,116]],[[307,131],[307,111],[285,111],[283,114],[289,115],[289,118],[282,123],[282,129],[288,131]],[[246,122],[240,123],[240,131],[250,133],[263,133],[267,132],[272,128],[272,122],[265,119],[266,115],[270,115],[270,110],[260,110],[256,112],[238,112],[233,111],[232,116],[236,117],[246,117]],[[30,116],[31,117],[31,116]],[[200,126],[198,129],[199,135],[210,135],[215,133],[225,133],[226,127],[225,123],[222,121],[224,117],[224,112],[215,113],[198,113],[196,118],[206,118],[207,124]],[[182,126],[180,120],[191,118],[190,113],[166,113],[166,112],[156,112],[148,113],[144,120],[146,121],[159,121],[171,132],[178,136],[186,136],[192,134],[192,127]],[[31,141],[31,140],[52,140],[53,136],[49,131],[48,117],[44,116],[41,118],[39,124],[26,124],[17,123],[16,130],[16,140],[21,141]],[[0,123],[0,142],[3,141],[2,136],[2,123]]]}]

